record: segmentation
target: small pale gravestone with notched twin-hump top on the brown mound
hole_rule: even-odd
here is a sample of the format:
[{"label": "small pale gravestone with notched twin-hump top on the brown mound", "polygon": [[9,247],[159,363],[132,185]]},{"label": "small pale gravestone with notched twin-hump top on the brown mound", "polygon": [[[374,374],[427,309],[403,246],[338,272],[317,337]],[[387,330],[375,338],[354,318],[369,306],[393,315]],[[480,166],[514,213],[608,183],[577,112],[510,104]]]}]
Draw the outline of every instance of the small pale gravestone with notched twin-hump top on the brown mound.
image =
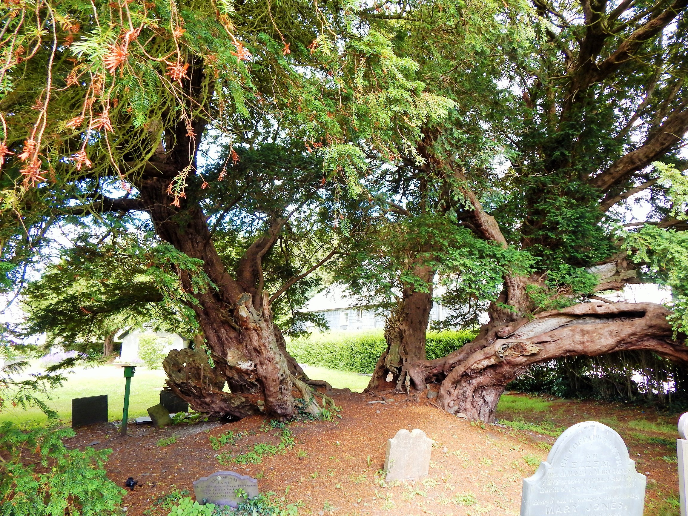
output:
[{"label": "small pale gravestone with notched twin-hump top on the brown mound", "polygon": [[401,429],[392,439],[387,439],[385,454],[385,480],[413,480],[428,474],[432,439],[425,432]]}]

